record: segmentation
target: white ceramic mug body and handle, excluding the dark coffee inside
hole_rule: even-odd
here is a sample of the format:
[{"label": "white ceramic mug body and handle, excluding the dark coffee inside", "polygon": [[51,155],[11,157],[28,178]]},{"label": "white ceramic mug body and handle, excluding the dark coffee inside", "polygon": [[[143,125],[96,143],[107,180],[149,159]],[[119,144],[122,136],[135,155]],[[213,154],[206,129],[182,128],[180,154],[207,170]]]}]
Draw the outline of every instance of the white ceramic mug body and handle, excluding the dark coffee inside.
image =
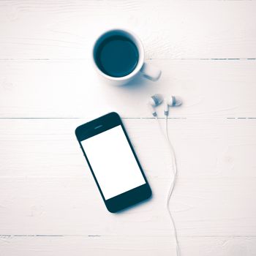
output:
[{"label": "white ceramic mug body and handle, excluding the dark coffee inside", "polygon": [[[97,61],[96,61],[96,53],[97,49],[99,48],[99,45],[101,45],[102,41],[107,39],[108,37],[113,37],[116,35],[121,35],[123,37],[127,37],[129,40],[131,40],[136,48],[138,49],[138,64],[136,65],[135,69],[132,70],[128,75],[125,75],[123,77],[113,77],[110,75],[105,74],[105,72],[102,72],[101,69],[97,66]],[[157,67],[154,67],[151,64],[148,64],[144,60],[145,53],[144,53],[144,48],[142,45],[142,42],[140,39],[133,34],[131,31],[127,31],[126,29],[111,29],[108,31],[105,31],[101,36],[98,37],[96,42],[94,43],[94,48],[93,48],[93,62],[94,62],[94,67],[97,69],[97,72],[99,75],[102,76],[105,80],[109,81],[110,83],[119,86],[123,85],[124,83],[128,83],[132,78],[135,78],[135,76],[139,75],[141,72],[142,75],[145,78],[148,78],[149,80],[156,81],[159,79],[161,75],[161,70],[159,70]]]}]

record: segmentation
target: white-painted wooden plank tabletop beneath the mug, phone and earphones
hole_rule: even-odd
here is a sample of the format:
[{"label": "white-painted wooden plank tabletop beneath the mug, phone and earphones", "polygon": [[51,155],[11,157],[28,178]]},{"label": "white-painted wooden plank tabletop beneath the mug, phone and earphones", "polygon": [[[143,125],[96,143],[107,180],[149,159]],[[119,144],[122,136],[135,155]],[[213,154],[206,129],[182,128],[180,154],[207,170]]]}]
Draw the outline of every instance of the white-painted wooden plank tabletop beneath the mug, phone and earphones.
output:
[{"label": "white-painted wooden plank tabletop beneath the mug, phone and earphones", "polygon": [[[98,80],[91,43],[113,27],[139,35],[157,83]],[[181,255],[256,255],[255,46],[256,1],[1,0],[0,255],[175,255],[170,155],[146,106],[157,92],[184,100],[168,120]],[[121,214],[106,211],[74,135],[109,110],[154,193]]]}]

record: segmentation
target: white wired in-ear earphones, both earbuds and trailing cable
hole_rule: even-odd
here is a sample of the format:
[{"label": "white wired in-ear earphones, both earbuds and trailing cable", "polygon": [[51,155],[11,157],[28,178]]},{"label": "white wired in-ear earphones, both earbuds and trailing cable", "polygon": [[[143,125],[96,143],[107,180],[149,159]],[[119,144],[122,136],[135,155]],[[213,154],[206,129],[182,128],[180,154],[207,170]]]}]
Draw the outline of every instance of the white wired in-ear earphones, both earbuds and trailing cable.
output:
[{"label": "white wired in-ear earphones, both earbuds and trailing cable", "polygon": [[173,233],[174,233],[174,237],[175,237],[175,240],[176,240],[176,255],[180,256],[180,249],[179,249],[179,246],[178,246],[178,238],[177,238],[176,225],[175,225],[175,222],[173,220],[173,216],[172,216],[172,214],[170,212],[170,208],[169,208],[170,197],[173,194],[173,189],[174,189],[175,184],[176,184],[177,165],[176,165],[176,155],[175,155],[175,152],[174,152],[174,149],[173,149],[173,145],[170,142],[170,137],[169,137],[169,133],[168,133],[168,119],[167,119],[167,116],[169,114],[169,107],[180,106],[182,104],[182,101],[181,101],[181,99],[179,97],[175,97],[175,96],[171,96],[168,99],[163,99],[161,94],[154,94],[149,99],[148,105],[151,108],[151,113],[154,116],[154,118],[157,119],[157,123],[159,124],[159,128],[161,129],[162,135],[164,135],[164,136],[165,136],[165,132],[162,130],[161,124],[159,123],[159,119],[157,117],[157,110],[156,110],[156,107],[158,105],[160,105],[163,101],[165,103],[165,111],[164,111],[164,113],[165,113],[165,132],[166,132],[166,138],[167,138],[167,143],[168,143],[168,146],[169,146],[169,149],[170,149],[170,153],[171,153],[172,159],[173,159],[173,166],[172,166],[172,169],[173,169],[173,180],[171,181],[170,189],[169,189],[169,192],[168,192],[168,195],[167,195],[166,207],[167,207],[168,214],[170,215],[171,222],[173,224]]}]

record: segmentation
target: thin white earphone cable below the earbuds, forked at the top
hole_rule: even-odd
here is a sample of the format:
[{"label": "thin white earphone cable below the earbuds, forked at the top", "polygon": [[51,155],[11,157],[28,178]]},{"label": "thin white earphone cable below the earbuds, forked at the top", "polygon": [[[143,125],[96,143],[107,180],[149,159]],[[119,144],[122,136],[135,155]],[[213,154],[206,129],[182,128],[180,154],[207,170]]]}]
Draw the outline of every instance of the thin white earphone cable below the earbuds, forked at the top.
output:
[{"label": "thin white earphone cable below the earbuds, forked at the top", "polygon": [[173,220],[173,216],[170,212],[170,208],[169,208],[169,205],[170,205],[170,197],[171,195],[173,194],[173,189],[176,185],[176,178],[177,178],[177,165],[176,165],[176,155],[175,155],[175,151],[173,149],[173,145],[172,143],[170,142],[170,137],[169,137],[169,133],[168,133],[168,119],[167,119],[167,116],[165,118],[165,132],[166,132],[166,136],[165,136],[165,132],[163,131],[162,127],[161,127],[161,124],[159,122],[159,119],[157,118],[157,116],[155,116],[155,118],[157,119],[157,123],[159,124],[159,128],[162,132],[162,135],[167,138],[167,144],[168,144],[168,147],[170,149],[170,154],[172,155],[172,170],[173,170],[173,180],[171,181],[170,183],[170,189],[168,191],[168,194],[167,194],[167,200],[166,200],[166,208],[167,208],[167,211],[168,211],[168,214],[170,215],[170,220],[172,222],[172,225],[173,225],[173,234],[174,234],[174,237],[175,237],[175,241],[176,241],[176,255],[177,256],[180,256],[181,253],[180,253],[180,249],[179,249],[179,244],[178,244],[178,237],[177,237],[177,230],[176,230],[176,225],[175,225],[175,222]]}]

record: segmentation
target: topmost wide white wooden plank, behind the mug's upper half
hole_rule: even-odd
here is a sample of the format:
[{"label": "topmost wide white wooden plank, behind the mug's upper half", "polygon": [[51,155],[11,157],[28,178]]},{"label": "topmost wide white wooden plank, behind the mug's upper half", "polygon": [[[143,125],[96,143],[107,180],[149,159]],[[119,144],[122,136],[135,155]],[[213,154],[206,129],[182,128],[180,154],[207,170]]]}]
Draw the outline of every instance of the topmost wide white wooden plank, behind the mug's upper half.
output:
[{"label": "topmost wide white wooden plank, behind the mug's upper half", "polygon": [[255,1],[1,1],[0,59],[88,59],[97,35],[135,31],[147,59],[256,58]]}]

